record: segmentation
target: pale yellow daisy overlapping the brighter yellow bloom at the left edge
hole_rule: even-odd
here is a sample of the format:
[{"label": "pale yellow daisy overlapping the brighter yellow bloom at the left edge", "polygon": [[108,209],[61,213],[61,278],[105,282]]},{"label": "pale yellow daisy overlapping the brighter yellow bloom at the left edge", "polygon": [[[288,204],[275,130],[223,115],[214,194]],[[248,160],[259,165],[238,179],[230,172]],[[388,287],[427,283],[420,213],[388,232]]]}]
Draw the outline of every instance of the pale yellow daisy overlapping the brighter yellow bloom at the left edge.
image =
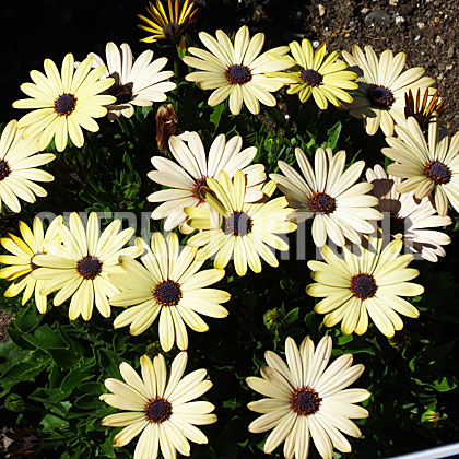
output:
[{"label": "pale yellow daisy overlapping the brighter yellow bloom at the left edge", "polygon": [[71,298],[69,308],[70,320],[80,315],[90,320],[94,304],[104,317],[110,316],[108,297],[119,292],[116,284],[108,279],[109,273],[119,272],[118,257],[127,255],[139,256],[138,247],[122,246],[132,237],[134,229],[119,232],[121,221],[113,221],[101,233],[96,212],[92,212],[84,228],[80,215],[73,212],[70,224],[58,225],[58,234],[62,244],[45,242],[45,255],[36,255],[32,262],[37,269],[32,276],[43,281],[42,295],[49,295],[59,290],[54,298],[54,305],[59,306]]}]

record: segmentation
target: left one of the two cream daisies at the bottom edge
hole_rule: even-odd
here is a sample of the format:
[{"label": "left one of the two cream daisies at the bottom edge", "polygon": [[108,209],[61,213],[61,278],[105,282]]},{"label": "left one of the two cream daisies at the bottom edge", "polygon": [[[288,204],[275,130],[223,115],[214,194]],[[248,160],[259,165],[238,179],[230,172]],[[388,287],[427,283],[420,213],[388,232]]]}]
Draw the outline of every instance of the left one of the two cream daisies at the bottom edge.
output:
[{"label": "left one of the two cream daisies at the bottom edge", "polygon": [[[102,425],[125,427],[114,438],[114,446],[125,446],[140,435],[134,459],[156,459],[158,450],[164,459],[176,459],[176,450],[190,455],[189,440],[207,444],[207,436],[195,425],[213,424],[214,405],[198,397],[205,393],[212,382],[204,379],[208,372],[196,369],[184,377],[187,353],[180,352],[167,372],[162,354],[153,362],[146,355],[140,357],[142,377],[126,362],[119,366],[125,381],[108,378],[105,386],[113,393],[103,393],[101,400],[122,413],[110,414]],[[195,400],[195,401],[192,401]]]}]

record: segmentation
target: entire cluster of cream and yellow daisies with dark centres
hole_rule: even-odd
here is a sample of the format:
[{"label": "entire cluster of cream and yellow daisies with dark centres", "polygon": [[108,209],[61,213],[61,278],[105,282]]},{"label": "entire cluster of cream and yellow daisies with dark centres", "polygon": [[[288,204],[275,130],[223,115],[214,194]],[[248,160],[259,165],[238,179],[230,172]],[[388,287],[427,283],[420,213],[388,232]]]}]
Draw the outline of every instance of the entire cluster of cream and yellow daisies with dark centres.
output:
[{"label": "entire cluster of cream and yellow daisies with dark centres", "polygon": [[[143,42],[169,38],[183,46],[180,34],[197,10],[189,0],[181,8],[178,0],[168,0],[167,8],[156,0],[146,11],[149,17],[139,15],[140,27],[152,35]],[[167,237],[154,233],[146,243],[118,220],[102,231],[96,213],[86,220],[72,213],[69,221],[56,217],[46,231],[38,217],[32,228],[21,222],[22,237],[1,238],[11,254],[0,256],[5,266],[0,278],[12,281],[5,296],[23,293],[24,305],[34,295],[45,314],[54,294],[54,306],[69,302],[71,320],[90,320],[94,307],[109,318],[111,307],[119,307],[115,328],[129,326],[131,334],[140,334],[157,319],[162,349],[168,352],[176,343],[181,351],[170,372],[162,354],[144,355],[141,376],[122,363],[123,380],[105,382],[109,393],[101,399],[123,412],[106,416],[103,424],[123,427],[115,446],[140,434],[136,459],[156,458],[160,450],[165,459],[176,451],[189,456],[189,442],[208,440],[196,425],[214,423],[214,407],[195,399],[212,384],[205,369],[184,376],[187,328],[204,332],[202,316],[227,316],[223,304],[231,295],[214,284],[228,263],[239,276],[248,269],[259,273],[263,261],[278,267],[275,251],[289,250],[285,235],[311,220],[322,261],[308,262],[315,282],[306,292],[321,298],[315,310],[325,315],[323,323],[363,334],[372,320],[392,337],[403,327],[400,316],[419,316],[403,298],[423,293],[422,285],[410,282],[419,275],[409,268],[414,255],[428,261],[445,256],[450,239],[438,229],[451,223],[449,204],[459,211],[459,133],[448,138],[437,119],[444,104],[431,87],[433,79],[422,68],[403,70],[403,52],[386,50],[378,57],[369,46],[364,51],[353,46],[340,60],[337,51],[327,55],[325,45],[314,49],[307,39],[261,52],[264,35],[250,37],[246,26],[234,39],[222,31],[215,37],[201,32],[199,38],[207,49],[188,47],[183,61],[198,70],[187,81],[212,90],[210,106],[228,99],[233,115],[243,105],[256,115],[260,103],[275,106],[272,93],[286,87],[302,103],[311,98],[320,109],[330,103],[350,110],[364,119],[369,136],[380,128],[388,144],[382,153],[393,163],[387,173],[380,165],[367,168],[363,180],[365,162],[346,167],[344,151],[318,149],[310,158],[296,149],[296,165],[280,161],[279,173],[268,174],[267,180],[264,166],[252,164],[257,149],[243,149],[239,136],[216,136],[207,152],[200,136],[187,131],[169,137],[170,156],[153,156],[149,173],[163,187],[148,200],[157,203],[152,219],[164,221]],[[45,73],[33,70],[33,83],[21,86],[30,98],[13,104],[33,110],[10,121],[1,134],[0,205],[20,212],[19,199],[34,202],[46,196],[36,181],[54,179],[38,168],[55,158],[40,153],[52,139],[58,152],[69,138],[81,148],[83,129],[99,128],[95,118],[129,118],[137,106],[166,101],[176,87],[166,64],[167,58],[153,60],[151,50],[133,59],[129,45],[108,43],[105,60],[92,52],[75,62],[68,54],[60,71],[49,59]],[[282,196],[273,198],[278,188]],[[190,235],[185,247],[178,234]],[[209,259],[213,268],[204,266]],[[306,459],[311,437],[320,456],[331,459],[333,448],[351,451],[343,433],[361,436],[351,420],[368,415],[356,403],[369,392],[346,387],[364,368],[352,365],[349,354],[328,366],[331,348],[330,337],[317,349],[309,337],[299,348],[287,338],[286,362],[267,351],[261,377],[247,378],[264,397],[248,408],[261,414],[250,432],[272,429],[266,452],[283,443],[285,458]]]}]

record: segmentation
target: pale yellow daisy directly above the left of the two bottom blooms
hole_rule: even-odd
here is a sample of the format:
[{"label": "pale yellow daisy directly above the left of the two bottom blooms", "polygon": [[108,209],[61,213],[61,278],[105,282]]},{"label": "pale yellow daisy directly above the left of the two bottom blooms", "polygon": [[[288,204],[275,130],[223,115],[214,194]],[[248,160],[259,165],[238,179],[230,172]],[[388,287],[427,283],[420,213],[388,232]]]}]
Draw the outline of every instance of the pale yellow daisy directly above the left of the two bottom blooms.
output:
[{"label": "pale yellow daisy directly above the left of the two bottom blooms", "polygon": [[110,305],[127,308],[114,321],[114,327],[130,325],[131,334],[145,331],[160,315],[160,343],[164,351],[170,351],[174,341],[184,351],[188,348],[188,333],[209,329],[200,314],[223,318],[228,311],[220,305],[231,295],[216,289],[205,289],[219,282],[224,270],[199,271],[202,261],[196,260],[196,248],[185,247],[179,252],[178,237],[170,233],[165,239],[154,233],[151,246],[137,238],[143,251],[141,263],[122,258],[123,272],[111,274],[110,280],[123,291],[110,298]]}]

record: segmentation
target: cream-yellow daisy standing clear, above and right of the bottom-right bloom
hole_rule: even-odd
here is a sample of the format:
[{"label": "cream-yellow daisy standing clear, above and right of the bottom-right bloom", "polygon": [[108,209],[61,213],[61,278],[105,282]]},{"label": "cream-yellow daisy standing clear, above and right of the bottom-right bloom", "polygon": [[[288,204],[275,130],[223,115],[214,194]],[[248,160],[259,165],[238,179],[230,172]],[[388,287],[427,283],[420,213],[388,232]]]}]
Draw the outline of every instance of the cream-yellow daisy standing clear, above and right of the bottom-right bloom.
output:
[{"label": "cream-yellow daisy standing clear, above and right of the bottom-right bloom", "polygon": [[323,323],[333,327],[342,321],[341,330],[350,334],[363,334],[368,328],[368,314],[376,327],[386,337],[393,337],[403,328],[399,314],[416,318],[417,309],[399,295],[416,296],[424,287],[412,279],[419,271],[408,268],[412,254],[400,255],[403,243],[395,239],[382,249],[382,237],[368,236],[365,245],[356,247],[356,254],[343,247],[343,257],[338,257],[329,246],[320,254],[323,261],[311,260],[307,266],[317,282],[306,287],[314,297],[326,297],[314,310],[326,314]]}]

